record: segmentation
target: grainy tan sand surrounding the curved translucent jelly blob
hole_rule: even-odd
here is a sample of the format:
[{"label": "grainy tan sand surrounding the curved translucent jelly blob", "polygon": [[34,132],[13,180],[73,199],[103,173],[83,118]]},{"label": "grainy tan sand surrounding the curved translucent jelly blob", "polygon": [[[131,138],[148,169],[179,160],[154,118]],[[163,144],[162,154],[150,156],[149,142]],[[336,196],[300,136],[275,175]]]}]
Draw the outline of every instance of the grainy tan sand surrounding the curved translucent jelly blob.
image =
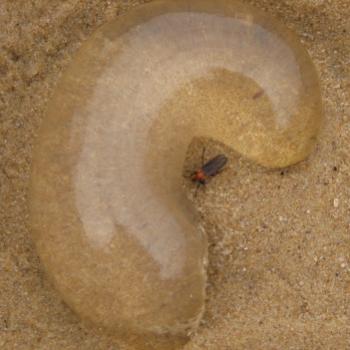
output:
[{"label": "grainy tan sand surrounding the curved translucent jelly blob", "polygon": [[[143,2],[0,1],[0,349],[119,349],[46,281],[26,188],[62,70],[94,29]],[[198,195],[208,303],[186,350],[350,349],[350,1],[245,2],[299,35],[320,75],[325,125],[307,161],[271,171],[240,160]]]}]

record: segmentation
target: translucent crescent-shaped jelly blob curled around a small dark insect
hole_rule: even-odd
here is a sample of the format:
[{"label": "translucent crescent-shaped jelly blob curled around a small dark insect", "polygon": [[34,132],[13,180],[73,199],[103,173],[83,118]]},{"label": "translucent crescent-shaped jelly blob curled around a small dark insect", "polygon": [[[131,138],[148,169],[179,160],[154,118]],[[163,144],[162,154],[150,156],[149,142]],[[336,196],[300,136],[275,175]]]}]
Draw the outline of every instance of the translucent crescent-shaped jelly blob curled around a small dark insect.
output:
[{"label": "translucent crescent-shaped jelly blob curled around a small dark insect", "polygon": [[236,1],[152,2],[101,27],[58,84],[33,159],[33,237],[65,302],[137,349],[176,347],[206,284],[181,187],[189,143],[288,166],[321,114],[295,36]]}]

